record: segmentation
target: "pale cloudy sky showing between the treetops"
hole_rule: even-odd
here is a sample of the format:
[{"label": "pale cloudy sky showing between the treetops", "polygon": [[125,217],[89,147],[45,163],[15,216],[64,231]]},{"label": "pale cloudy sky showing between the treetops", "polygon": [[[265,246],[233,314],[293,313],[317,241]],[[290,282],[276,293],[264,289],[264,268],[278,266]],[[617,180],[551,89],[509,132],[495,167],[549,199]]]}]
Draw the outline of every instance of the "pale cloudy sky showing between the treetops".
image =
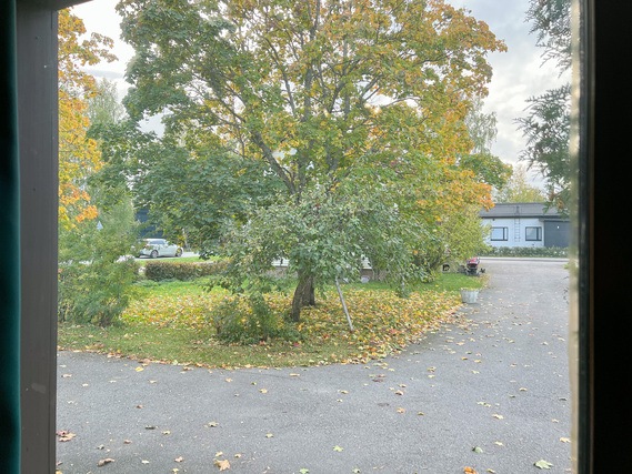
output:
[{"label": "pale cloudy sky showing between the treetops", "polygon": [[[553,64],[542,64],[542,49],[535,47],[535,37],[529,33],[530,24],[524,20],[529,0],[448,2],[471,10],[474,18],[488,23],[496,38],[506,43],[506,52],[491,53],[488,58],[493,68],[493,78],[484,101],[484,112],[495,113],[498,121],[498,138],[492,153],[503,162],[515,165],[525,145],[515,119],[525,115],[526,100],[562,84],[569,80],[569,75],[566,73],[560,78]],[[120,39],[120,17],[114,10],[117,3],[118,0],[91,0],[74,7],[73,12],[83,20],[88,32],[106,34],[114,40],[113,53],[119,60],[88,68],[87,71],[96,78],[114,81],[122,97],[129,87],[124,81],[126,64],[132,58],[133,50]],[[150,122],[148,127],[160,128],[158,122]],[[542,185],[538,175],[531,174],[531,178],[533,185]]]}]

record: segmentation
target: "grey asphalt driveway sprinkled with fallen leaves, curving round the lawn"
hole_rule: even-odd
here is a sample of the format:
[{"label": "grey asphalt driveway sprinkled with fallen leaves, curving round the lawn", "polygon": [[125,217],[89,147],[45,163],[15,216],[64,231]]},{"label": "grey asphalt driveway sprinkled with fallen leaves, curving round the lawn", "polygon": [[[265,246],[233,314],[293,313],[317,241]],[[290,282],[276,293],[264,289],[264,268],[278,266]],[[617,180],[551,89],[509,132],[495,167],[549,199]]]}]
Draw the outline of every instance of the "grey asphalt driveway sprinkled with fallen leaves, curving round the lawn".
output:
[{"label": "grey asphalt driveway sprinkled with fallen leaves, curving round the lawn", "polygon": [[59,470],[521,474],[545,460],[570,472],[568,272],[482,266],[489,288],[460,324],[373,364],[187,371],[62,352],[58,430],[76,436],[57,443]]}]

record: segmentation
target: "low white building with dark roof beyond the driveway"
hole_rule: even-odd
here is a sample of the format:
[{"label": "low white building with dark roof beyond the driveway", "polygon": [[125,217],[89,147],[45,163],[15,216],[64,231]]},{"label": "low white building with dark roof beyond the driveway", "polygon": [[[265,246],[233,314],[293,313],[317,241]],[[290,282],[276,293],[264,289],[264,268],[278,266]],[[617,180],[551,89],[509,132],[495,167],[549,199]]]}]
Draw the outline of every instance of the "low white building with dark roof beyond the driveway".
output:
[{"label": "low white building with dark roof beyond the driveway", "polygon": [[569,220],[541,202],[495,204],[479,216],[491,229],[486,239],[491,246],[569,246]]}]

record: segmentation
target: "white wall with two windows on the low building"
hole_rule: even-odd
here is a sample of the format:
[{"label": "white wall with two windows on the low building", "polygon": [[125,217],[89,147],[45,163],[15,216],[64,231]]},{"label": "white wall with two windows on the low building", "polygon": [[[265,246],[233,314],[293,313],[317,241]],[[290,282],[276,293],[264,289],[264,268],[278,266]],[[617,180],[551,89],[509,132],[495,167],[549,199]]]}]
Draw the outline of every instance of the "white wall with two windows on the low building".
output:
[{"label": "white wall with two windows on the low building", "polygon": [[[538,218],[493,218],[483,219],[491,228],[485,242],[491,246],[544,246],[544,222]],[[528,240],[526,230],[531,239]],[[538,230],[539,229],[539,230]]]}]

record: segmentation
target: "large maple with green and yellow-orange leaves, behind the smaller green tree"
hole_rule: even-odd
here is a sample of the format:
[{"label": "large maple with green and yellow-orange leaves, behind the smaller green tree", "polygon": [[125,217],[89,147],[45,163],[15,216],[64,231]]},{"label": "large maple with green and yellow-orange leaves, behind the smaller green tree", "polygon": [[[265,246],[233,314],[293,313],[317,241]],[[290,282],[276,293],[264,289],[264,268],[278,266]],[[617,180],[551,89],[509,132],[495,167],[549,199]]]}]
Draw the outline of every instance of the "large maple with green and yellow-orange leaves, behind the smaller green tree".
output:
[{"label": "large maple with green and yellow-orange leaves, behind the smaller green tree", "polygon": [[[194,144],[214,135],[263,163],[261,178],[281,183],[284,195],[254,218],[295,218],[284,213],[290,203],[295,212],[325,201],[340,209],[350,190],[380,190],[398,219],[421,232],[437,222],[431,210],[491,202],[491,185],[458,158],[472,148],[463,120],[491,78],[485,54],[505,47],[467,11],[392,0],[122,0],[117,9],[136,50],[130,117],[165,113],[168,139]],[[319,242],[339,232],[319,229]],[[239,241],[238,230],[248,234],[244,224],[221,242]],[[349,256],[340,268],[357,268],[359,255],[333,241],[319,259],[338,254]],[[262,255],[269,265],[272,254]],[[313,258],[294,253],[304,259],[295,262],[294,319],[329,274],[309,264]]]}]

